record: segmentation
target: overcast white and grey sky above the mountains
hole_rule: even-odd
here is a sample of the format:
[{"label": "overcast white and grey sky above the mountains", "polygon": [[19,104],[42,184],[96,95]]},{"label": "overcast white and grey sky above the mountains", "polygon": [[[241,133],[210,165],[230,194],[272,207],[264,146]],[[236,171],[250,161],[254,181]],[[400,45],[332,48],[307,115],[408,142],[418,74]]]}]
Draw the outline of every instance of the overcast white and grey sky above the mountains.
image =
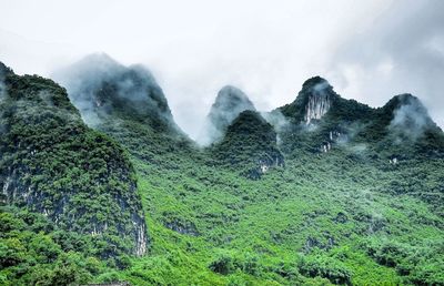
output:
[{"label": "overcast white and grey sky above the mountains", "polygon": [[266,111],[317,74],[372,106],[413,93],[444,126],[441,0],[0,0],[0,61],[17,73],[51,76],[93,52],[142,63],[192,137],[223,85]]}]

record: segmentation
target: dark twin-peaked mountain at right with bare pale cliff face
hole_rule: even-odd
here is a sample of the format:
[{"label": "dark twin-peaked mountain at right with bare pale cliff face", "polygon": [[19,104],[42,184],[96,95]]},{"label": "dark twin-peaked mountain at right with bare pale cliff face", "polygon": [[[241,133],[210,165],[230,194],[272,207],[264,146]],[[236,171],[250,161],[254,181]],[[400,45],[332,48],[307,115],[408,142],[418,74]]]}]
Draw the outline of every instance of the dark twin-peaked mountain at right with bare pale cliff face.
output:
[{"label": "dark twin-peaked mountain at right with bare pale cliff face", "polygon": [[330,83],[315,76],[302,86],[295,101],[278,109],[291,130],[280,134],[283,150],[326,152],[332,147],[365,145],[373,159],[444,154],[444,136],[420,100],[394,96],[379,109],[341,98]]}]

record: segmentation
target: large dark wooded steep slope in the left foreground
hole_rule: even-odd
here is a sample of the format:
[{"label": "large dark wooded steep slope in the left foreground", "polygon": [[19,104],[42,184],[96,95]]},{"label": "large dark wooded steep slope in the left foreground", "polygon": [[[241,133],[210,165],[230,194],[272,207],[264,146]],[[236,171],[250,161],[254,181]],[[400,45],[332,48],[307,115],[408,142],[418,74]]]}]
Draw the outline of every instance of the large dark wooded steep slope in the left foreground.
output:
[{"label": "large dark wooded steep slope in the left foreground", "polygon": [[122,147],[85,126],[53,81],[19,76],[3,64],[0,74],[3,200],[42,213],[63,229],[93,236],[102,257],[143,255],[144,215]]}]

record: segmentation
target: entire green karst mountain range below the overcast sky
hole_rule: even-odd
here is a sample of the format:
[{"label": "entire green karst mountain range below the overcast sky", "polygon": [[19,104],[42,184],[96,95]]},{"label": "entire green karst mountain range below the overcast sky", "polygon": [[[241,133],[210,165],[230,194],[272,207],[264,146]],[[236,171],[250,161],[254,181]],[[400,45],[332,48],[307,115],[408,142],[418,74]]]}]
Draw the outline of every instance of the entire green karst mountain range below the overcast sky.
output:
[{"label": "entire green karst mountain range below the overcast sky", "polygon": [[[224,88],[218,139],[200,146],[145,68],[83,64],[56,76],[79,111],[54,82],[3,68],[0,187],[19,177],[14,192],[39,200],[0,201],[1,285],[444,285],[443,132],[417,98],[374,109],[315,76],[258,112]],[[63,223],[44,211],[61,197],[75,198]],[[109,235],[91,234],[93,216]]]}]

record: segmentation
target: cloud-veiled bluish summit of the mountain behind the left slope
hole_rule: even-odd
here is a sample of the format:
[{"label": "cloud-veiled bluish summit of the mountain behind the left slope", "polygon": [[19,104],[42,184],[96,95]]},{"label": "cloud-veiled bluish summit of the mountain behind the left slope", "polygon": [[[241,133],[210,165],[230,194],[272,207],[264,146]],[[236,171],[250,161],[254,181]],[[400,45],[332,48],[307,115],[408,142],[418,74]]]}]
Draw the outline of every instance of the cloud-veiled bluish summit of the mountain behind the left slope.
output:
[{"label": "cloud-veiled bluish summit of the mountain behind the left slope", "polygon": [[105,53],[87,55],[56,76],[90,125],[109,115],[175,127],[162,89],[142,65],[124,67]]}]

